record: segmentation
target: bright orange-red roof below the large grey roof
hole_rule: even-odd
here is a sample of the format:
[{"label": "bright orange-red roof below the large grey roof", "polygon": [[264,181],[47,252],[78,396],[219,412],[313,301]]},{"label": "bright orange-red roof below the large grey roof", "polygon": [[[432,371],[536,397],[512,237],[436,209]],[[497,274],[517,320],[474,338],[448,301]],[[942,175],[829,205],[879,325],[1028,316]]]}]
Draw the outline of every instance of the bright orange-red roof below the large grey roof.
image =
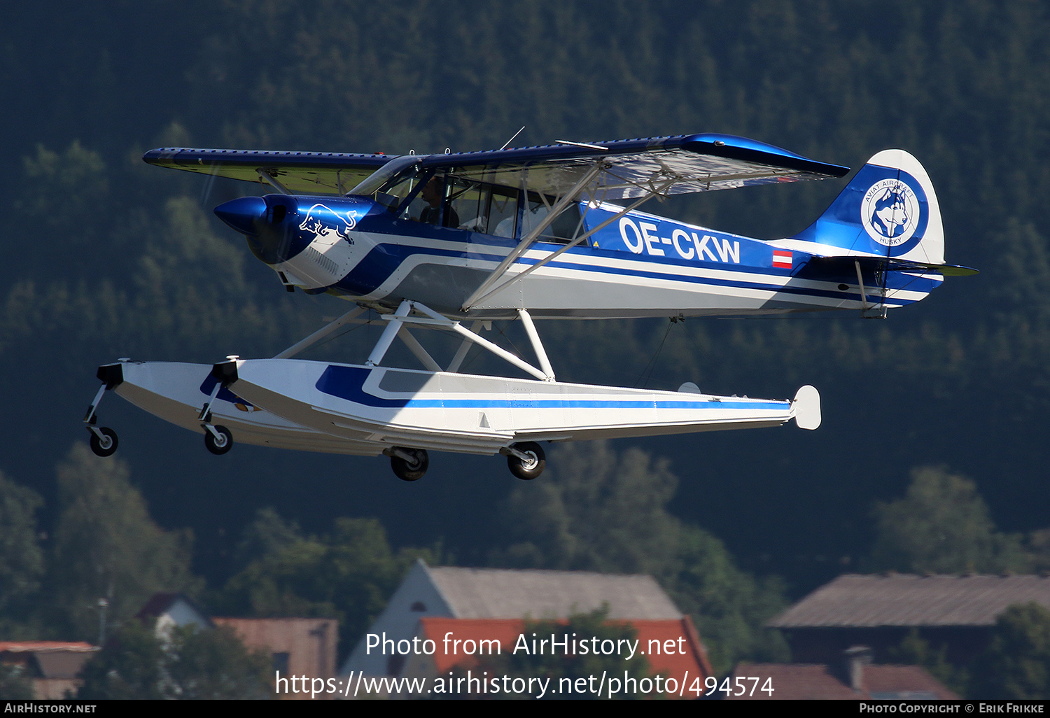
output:
[{"label": "bright orange-red roof below the large grey roof", "polygon": [[[637,633],[637,650],[645,652],[649,659],[650,670],[653,674],[663,673],[670,678],[676,678],[679,683],[689,676],[704,678],[711,675],[711,663],[707,653],[700,642],[696,629],[689,616],[681,618],[668,618],[657,620],[629,620],[629,621],[608,621],[612,624],[629,624]],[[439,675],[452,670],[455,666],[477,664],[477,655],[467,655],[462,650],[457,653],[445,653],[443,639],[446,633],[452,633],[452,640],[462,639],[481,641],[498,640],[503,654],[511,653],[518,642],[519,636],[525,633],[525,621],[520,618],[442,618],[438,616],[426,616],[419,619],[420,635],[429,638],[435,642],[434,663]],[[558,640],[562,636],[555,634]],[[539,636],[543,638],[544,636]],[[678,638],[685,641],[679,643]],[[587,636],[576,637],[575,640],[588,639]],[[675,650],[670,653],[650,652],[650,641],[658,641],[664,646],[664,641],[675,641]],[[455,646],[455,643],[453,643]],[[461,643],[460,646],[463,646]],[[679,647],[685,653],[679,652]],[[559,655],[562,654],[559,649]],[[638,654],[635,654],[638,655]],[[626,660],[625,668],[630,668],[630,662]],[[687,694],[688,695],[688,694]]]}]

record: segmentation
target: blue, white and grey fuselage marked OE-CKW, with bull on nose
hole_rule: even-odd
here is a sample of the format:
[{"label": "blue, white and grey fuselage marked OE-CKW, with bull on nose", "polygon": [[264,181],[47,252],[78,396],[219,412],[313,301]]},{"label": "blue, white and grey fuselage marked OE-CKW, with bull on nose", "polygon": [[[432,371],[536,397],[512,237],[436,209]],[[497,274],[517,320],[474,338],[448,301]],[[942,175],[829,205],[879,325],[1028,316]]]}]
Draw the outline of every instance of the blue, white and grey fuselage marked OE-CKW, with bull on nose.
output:
[{"label": "blue, white and grey fuselage marked OE-CKW, with bull on nose", "polygon": [[[496,287],[620,210],[570,208]],[[894,308],[924,298],[942,281],[937,273],[877,273],[868,266],[862,295],[850,263],[825,261],[799,251],[798,242],[788,249],[632,211],[464,311],[540,216],[519,209],[497,221],[489,210],[428,224],[372,197],[282,194],[245,197],[216,213],[248,236],[253,253],[288,287],[386,308],[412,299],[446,316],[511,317],[519,308],[536,318],[773,315],[876,301]]]}]

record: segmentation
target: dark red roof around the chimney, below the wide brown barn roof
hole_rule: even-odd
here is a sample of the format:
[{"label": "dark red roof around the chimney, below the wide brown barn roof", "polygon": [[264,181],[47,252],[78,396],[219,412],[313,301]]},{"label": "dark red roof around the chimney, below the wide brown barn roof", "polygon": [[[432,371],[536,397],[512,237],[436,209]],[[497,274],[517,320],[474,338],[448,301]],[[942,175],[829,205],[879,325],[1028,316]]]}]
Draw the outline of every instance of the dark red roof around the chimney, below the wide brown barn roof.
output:
[{"label": "dark red roof around the chimney, below the wide brown barn roof", "polygon": [[[729,696],[730,700],[957,700],[959,696],[942,685],[920,666],[865,666],[863,691],[854,691],[834,675],[827,666],[810,663],[738,663],[734,677],[758,678],[752,694],[752,681],[743,681],[749,695]],[[773,694],[761,689],[766,684]],[[735,681],[731,681],[735,685]],[[734,689],[735,690],[735,689]]]}]

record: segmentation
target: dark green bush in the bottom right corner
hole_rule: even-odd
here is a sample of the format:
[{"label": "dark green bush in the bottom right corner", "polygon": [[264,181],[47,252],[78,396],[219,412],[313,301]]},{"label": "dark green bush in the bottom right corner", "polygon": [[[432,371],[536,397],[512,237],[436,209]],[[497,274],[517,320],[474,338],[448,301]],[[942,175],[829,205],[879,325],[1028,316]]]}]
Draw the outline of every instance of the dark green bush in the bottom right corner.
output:
[{"label": "dark green bush in the bottom right corner", "polygon": [[1004,611],[971,675],[973,698],[1050,698],[1050,610],[1031,603]]}]

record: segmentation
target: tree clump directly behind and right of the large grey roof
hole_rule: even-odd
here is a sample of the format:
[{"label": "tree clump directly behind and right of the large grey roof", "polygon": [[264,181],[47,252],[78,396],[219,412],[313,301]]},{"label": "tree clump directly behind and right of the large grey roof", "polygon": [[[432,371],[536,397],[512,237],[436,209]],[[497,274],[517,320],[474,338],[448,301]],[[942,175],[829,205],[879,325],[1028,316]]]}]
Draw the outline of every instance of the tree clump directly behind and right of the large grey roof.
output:
[{"label": "tree clump directly behind and right of the large grey roof", "polygon": [[542,482],[519,486],[503,525],[517,538],[490,563],[610,573],[649,573],[694,616],[716,673],[742,658],[786,658],[765,620],[786,605],[783,588],[736,567],[724,545],[668,512],[678,480],[667,460],[608,442],[551,452]]}]

